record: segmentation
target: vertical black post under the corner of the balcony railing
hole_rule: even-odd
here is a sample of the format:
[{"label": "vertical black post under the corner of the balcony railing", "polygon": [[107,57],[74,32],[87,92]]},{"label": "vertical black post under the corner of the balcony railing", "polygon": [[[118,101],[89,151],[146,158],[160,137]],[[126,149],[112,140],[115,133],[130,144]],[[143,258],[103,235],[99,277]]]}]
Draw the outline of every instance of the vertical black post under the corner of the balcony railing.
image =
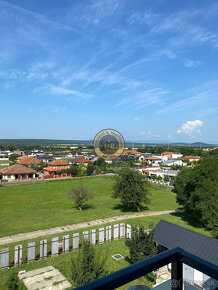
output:
[{"label": "vertical black post under the corner of the balcony railing", "polygon": [[182,262],[175,261],[172,262],[171,269],[171,289],[172,290],[181,290],[183,289],[183,271],[182,271]]}]

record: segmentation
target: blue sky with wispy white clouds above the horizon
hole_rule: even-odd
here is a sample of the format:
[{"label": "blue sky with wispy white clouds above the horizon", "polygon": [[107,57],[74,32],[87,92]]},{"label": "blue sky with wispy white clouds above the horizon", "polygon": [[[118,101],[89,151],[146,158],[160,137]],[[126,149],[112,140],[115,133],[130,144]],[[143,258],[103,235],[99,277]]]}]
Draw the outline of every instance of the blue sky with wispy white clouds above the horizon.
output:
[{"label": "blue sky with wispy white clouds above the horizon", "polygon": [[218,142],[218,2],[0,0],[0,138]]}]

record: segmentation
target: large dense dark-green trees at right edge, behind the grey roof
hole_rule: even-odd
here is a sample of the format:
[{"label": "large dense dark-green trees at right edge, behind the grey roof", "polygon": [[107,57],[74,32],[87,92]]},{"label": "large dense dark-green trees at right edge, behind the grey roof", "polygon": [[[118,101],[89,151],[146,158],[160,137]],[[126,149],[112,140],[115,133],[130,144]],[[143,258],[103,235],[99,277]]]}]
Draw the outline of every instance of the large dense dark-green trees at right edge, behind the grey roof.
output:
[{"label": "large dense dark-green trees at right edge, behind the grey roof", "polygon": [[177,201],[218,238],[218,158],[203,159],[183,168],[174,181]]}]

